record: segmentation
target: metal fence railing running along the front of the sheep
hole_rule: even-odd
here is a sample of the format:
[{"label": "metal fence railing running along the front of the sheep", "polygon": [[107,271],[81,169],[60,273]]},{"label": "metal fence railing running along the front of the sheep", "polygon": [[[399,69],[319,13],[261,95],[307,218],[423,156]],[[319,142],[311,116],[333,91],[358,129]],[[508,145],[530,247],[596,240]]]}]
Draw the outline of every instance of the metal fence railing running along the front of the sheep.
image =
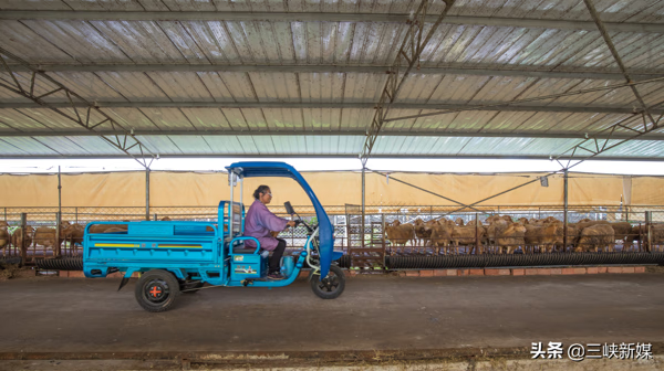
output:
[{"label": "metal fence railing running along the front of the sheep", "polygon": [[[270,205],[272,212],[280,216],[289,218],[281,205]],[[315,223],[317,216],[311,205],[295,205],[295,211],[308,222]],[[546,243],[528,243],[513,240],[511,243],[497,241],[497,236],[489,231],[491,215],[507,215],[510,223],[519,220],[556,219],[564,221],[566,210],[561,205],[510,205],[510,206],[477,206],[479,211],[458,211],[458,206],[438,205],[367,205],[365,208],[364,230],[362,231],[362,209],[360,205],[330,205],[324,208],[334,225],[335,248],[353,254],[359,261],[365,258],[372,265],[382,259],[382,256],[398,254],[416,255],[444,255],[444,254],[478,254],[478,253],[546,253],[554,251],[574,252],[578,250],[581,231],[562,231],[556,235],[544,236]],[[21,215],[25,220],[21,222]],[[92,221],[141,221],[146,218],[145,208],[62,208],[61,222],[85,225]],[[153,206],[149,210],[151,220],[160,220],[168,216],[170,220],[208,221],[216,222],[216,206]],[[475,222],[478,219],[479,223]],[[35,258],[52,256],[80,256],[82,247],[75,240],[68,240],[64,224],[60,229],[60,243],[49,242],[49,234],[35,233],[40,227],[56,230],[59,225],[58,208],[1,208],[0,220],[4,221],[4,229],[9,236],[8,243],[1,250],[0,257],[24,256],[27,263]],[[391,237],[388,226],[398,221],[401,224],[417,223],[452,223],[466,225],[468,235],[445,237],[427,231],[415,233],[413,239]],[[506,220],[507,221],[507,220]],[[604,221],[609,223],[629,223],[630,233],[614,239],[613,247],[599,248],[605,252],[643,252],[664,251],[664,205],[615,206],[615,205],[583,205],[569,206],[567,221],[573,225],[582,221]],[[468,224],[470,224],[468,226]],[[21,239],[25,226],[24,246]],[[459,225],[460,226],[460,225]],[[484,231],[480,231],[484,230]],[[19,232],[19,234],[17,234]],[[415,229],[414,229],[415,232]],[[467,232],[467,231],[466,231]],[[560,235],[562,234],[562,236]],[[279,235],[287,240],[290,250],[304,245],[307,230],[303,226],[288,229]],[[547,240],[547,237],[549,237]],[[520,237],[519,237],[520,239]],[[560,242],[567,240],[567,243]],[[53,240],[53,239],[51,239]],[[435,241],[434,241],[435,240]],[[587,239],[588,240],[588,239]],[[0,231],[0,241],[1,231]],[[532,242],[532,240],[530,240]],[[577,245],[574,245],[577,244]],[[566,247],[560,247],[566,245]],[[583,244],[582,244],[583,245]],[[510,248],[511,246],[511,248]],[[532,247],[535,246],[535,247]],[[558,247],[557,247],[558,246]],[[360,250],[363,248],[363,250]],[[594,247],[582,247],[583,251],[594,251]],[[373,262],[373,263],[371,263]]]}]

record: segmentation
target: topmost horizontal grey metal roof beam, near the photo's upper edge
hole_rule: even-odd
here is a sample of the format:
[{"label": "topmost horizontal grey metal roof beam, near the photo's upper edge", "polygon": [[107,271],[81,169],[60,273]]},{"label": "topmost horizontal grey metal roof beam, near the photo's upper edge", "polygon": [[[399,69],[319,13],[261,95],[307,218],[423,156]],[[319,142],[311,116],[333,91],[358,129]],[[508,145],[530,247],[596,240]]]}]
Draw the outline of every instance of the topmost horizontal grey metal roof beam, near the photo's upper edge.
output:
[{"label": "topmost horizontal grey metal roof beam, near the photo's upper edge", "polygon": [[[427,15],[433,23],[437,15]],[[304,22],[388,22],[405,23],[408,14],[377,13],[279,13],[279,12],[203,12],[203,11],[69,11],[69,10],[4,10],[0,20],[84,20],[84,21],[304,21]],[[445,24],[513,26],[596,31],[593,22],[522,18],[446,17]],[[664,33],[664,24],[605,23],[610,31]]]}]

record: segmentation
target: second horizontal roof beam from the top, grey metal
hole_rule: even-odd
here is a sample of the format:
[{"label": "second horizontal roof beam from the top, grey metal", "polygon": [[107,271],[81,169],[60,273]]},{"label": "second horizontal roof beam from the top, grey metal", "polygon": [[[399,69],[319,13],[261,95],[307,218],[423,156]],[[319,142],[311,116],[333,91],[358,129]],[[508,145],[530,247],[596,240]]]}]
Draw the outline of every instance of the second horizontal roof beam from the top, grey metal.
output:
[{"label": "second horizontal roof beam from the top, grey metal", "polygon": [[[14,72],[28,71],[20,65],[10,65]],[[39,68],[44,72],[266,72],[266,73],[374,73],[385,74],[390,66],[343,66],[343,65],[219,65],[219,64],[44,64]],[[427,67],[422,66],[416,74],[445,74],[473,76],[510,76],[539,78],[583,78],[583,80],[624,80],[620,71],[527,71],[500,70],[489,66],[475,67]],[[631,73],[635,80],[649,80],[662,76],[664,71],[637,71]]]}]

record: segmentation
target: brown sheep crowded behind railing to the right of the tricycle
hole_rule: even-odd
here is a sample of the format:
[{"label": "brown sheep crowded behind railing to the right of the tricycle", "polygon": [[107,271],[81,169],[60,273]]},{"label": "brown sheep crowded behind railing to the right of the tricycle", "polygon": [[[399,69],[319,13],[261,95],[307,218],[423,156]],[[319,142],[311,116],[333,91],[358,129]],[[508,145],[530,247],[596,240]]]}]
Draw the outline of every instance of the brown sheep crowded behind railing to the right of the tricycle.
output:
[{"label": "brown sheep crowded behind railing to the right of the tricycle", "polygon": [[[509,215],[492,215],[486,223],[476,220],[464,225],[464,220],[422,219],[402,224],[398,220],[385,226],[387,240],[395,246],[392,254],[405,252],[409,244],[411,253],[425,253],[429,248],[435,255],[458,254],[466,246],[468,254],[512,254],[520,248],[525,254],[552,252],[613,252],[615,242],[622,241],[622,251],[632,250],[635,242],[646,235],[644,225],[633,226],[627,222],[591,221],[568,223],[567,245],[564,244],[563,222],[553,216],[547,219],[521,218],[517,222]],[[664,225],[652,229],[652,245],[664,244]],[[639,248],[645,244],[640,243]]]}]

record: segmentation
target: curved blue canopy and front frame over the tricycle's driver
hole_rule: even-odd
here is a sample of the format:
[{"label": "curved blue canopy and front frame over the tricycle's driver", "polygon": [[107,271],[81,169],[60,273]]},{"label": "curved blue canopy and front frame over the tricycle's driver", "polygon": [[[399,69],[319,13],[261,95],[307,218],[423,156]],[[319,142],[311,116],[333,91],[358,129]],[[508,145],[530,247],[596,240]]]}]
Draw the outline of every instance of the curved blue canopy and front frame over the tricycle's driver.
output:
[{"label": "curved blue canopy and front frame over the tricycle's driver", "polygon": [[295,180],[304,192],[309,195],[315,215],[319,222],[319,239],[320,239],[320,262],[321,262],[321,277],[325,277],[330,269],[330,264],[333,261],[334,250],[334,236],[333,229],[328,213],[319,202],[315,193],[309,183],[304,180],[302,174],[298,172],[292,166],[286,162],[268,162],[268,161],[246,161],[235,162],[226,168],[229,172],[236,172],[242,178],[257,178],[257,177],[279,177],[279,178],[291,178]]}]

